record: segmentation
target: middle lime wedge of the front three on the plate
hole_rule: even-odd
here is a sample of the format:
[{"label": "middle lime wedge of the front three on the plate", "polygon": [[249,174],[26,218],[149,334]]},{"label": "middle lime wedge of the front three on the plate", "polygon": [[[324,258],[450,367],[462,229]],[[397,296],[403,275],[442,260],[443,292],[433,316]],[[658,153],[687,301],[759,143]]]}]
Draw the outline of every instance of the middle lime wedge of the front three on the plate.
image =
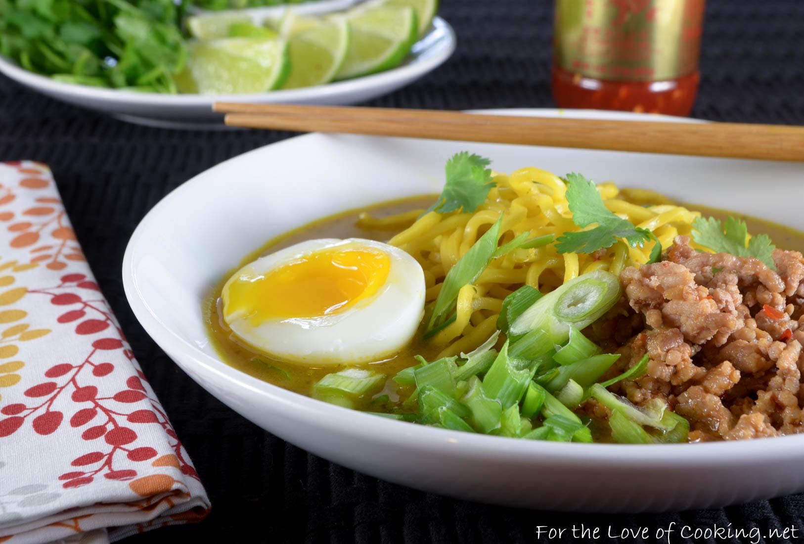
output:
[{"label": "middle lime wedge of the front three on the plate", "polygon": [[349,36],[349,23],[345,20],[291,36],[290,76],[283,88],[330,83],[347,58]]}]

